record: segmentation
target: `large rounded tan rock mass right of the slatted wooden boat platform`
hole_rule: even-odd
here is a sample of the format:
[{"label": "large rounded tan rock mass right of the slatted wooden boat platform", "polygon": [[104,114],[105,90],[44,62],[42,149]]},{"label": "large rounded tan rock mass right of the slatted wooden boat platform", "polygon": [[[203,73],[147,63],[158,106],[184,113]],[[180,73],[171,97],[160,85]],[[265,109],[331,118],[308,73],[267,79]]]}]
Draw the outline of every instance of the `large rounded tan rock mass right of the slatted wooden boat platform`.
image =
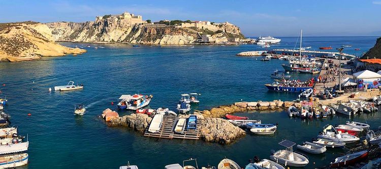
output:
[{"label": "large rounded tan rock mass right of the slatted wooden boat platform", "polygon": [[199,129],[201,139],[219,144],[230,144],[246,135],[238,126],[222,118],[205,118],[204,122],[200,123]]}]

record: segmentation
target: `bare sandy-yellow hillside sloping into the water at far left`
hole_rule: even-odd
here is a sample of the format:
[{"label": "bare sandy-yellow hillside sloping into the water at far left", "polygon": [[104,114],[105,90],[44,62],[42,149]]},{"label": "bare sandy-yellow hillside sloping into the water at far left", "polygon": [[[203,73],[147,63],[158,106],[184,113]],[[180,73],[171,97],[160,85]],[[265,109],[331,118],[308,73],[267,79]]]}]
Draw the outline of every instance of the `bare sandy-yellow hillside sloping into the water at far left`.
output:
[{"label": "bare sandy-yellow hillside sloping into the water at far left", "polygon": [[51,30],[37,22],[0,24],[0,61],[26,61],[41,56],[80,54],[86,50],[73,49],[55,43]]}]

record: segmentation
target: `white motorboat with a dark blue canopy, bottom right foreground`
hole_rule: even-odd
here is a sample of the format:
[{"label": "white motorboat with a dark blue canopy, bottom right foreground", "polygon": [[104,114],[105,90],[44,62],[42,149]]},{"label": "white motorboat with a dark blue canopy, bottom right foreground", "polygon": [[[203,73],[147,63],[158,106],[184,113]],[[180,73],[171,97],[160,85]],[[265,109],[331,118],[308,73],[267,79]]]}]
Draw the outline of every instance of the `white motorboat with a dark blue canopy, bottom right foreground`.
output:
[{"label": "white motorboat with a dark blue canopy, bottom right foreground", "polygon": [[292,147],[295,145],[294,142],[283,140],[279,145],[286,147],[287,150],[278,150],[272,153],[270,156],[271,160],[285,166],[306,166],[309,163],[306,156],[292,151]]}]

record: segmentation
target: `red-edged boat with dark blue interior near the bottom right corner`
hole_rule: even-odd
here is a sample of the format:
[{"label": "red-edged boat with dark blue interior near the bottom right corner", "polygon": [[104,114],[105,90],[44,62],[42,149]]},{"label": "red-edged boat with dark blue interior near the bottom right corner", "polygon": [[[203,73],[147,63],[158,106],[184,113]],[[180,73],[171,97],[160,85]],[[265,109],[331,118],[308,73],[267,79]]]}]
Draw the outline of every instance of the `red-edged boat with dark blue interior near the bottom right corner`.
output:
[{"label": "red-edged boat with dark blue interior near the bottom right corner", "polygon": [[369,152],[367,150],[347,154],[341,157],[335,158],[334,162],[331,162],[331,167],[340,167],[340,166],[347,166],[347,165],[353,165],[356,163],[361,162],[363,159],[367,158],[369,155]]}]

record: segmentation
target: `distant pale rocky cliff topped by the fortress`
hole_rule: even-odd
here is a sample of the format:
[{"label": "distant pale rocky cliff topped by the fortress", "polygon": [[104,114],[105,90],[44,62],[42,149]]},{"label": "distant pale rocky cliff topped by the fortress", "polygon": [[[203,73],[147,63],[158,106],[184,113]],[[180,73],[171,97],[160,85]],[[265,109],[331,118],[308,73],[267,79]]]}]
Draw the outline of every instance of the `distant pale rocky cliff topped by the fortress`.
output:
[{"label": "distant pale rocky cliff topped by the fortress", "polygon": [[[221,23],[207,27],[182,27],[181,25],[135,23],[121,19],[120,16],[97,17],[91,22],[52,22],[46,23],[56,41],[106,42],[132,44],[192,44],[200,34],[226,32],[226,37],[241,37],[239,27],[230,23]],[[195,24],[196,25],[196,24]]]}]

